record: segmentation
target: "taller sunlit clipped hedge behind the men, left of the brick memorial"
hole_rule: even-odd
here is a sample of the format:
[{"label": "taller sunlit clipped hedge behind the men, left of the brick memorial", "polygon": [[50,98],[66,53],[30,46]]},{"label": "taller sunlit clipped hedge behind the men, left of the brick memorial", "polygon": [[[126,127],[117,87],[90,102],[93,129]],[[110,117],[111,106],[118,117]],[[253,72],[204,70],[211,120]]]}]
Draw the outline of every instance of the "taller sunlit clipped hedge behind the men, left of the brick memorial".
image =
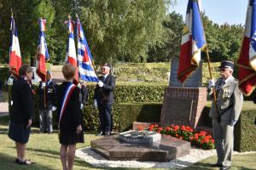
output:
[{"label": "taller sunlit clipped hedge behind the men, left of the brick memorial", "polygon": [[[118,82],[114,92],[115,102],[113,104],[113,129],[119,131],[124,129],[122,122],[125,122],[126,117],[123,116],[123,109],[120,108],[120,103],[126,102],[162,102],[164,91],[166,88],[165,83],[160,82]],[[88,83],[89,89],[89,102],[84,107],[84,124],[87,129],[97,129],[99,127],[98,111],[93,105],[93,96],[95,83]],[[36,85],[33,86],[37,88]],[[10,89],[10,88],[9,88]],[[38,124],[38,96],[34,97],[35,101],[35,124]],[[54,113],[54,127],[57,122],[55,121],[56,114]]]}]

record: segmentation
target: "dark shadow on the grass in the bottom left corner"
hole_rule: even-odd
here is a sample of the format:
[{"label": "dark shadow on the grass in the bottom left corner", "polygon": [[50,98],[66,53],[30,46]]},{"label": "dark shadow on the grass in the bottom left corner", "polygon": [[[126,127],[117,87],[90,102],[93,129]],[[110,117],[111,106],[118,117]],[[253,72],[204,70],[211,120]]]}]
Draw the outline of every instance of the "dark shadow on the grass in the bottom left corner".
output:
[{"label": "dark shadow on the grass in the bottom left corner", "polygon": [[15,156],[8,156],[6,154],[0,153],[0,169],[3,170],[26,170],[26,169],[37,169],[37,170],[53,170],[52,168],[45,167],[38,164],[37,162],[31,165],[19,165],[15,163]]}]

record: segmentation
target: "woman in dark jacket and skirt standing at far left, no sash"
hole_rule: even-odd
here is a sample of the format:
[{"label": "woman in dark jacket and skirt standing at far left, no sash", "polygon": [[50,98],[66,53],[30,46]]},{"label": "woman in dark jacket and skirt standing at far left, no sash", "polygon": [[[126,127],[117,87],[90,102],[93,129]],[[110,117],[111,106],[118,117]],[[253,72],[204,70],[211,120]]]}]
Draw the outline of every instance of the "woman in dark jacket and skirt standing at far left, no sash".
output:
[{"label": "woman in dark jacket and skirt standing at far left, no sash", "polygon": [[32,117],[34,115],[33,94],[30,81],[32,69],[28,65],[22,65],[18,79],[11,88],[9,138],[15,141],[17,157],[15,162],[21,165],[31,164],[26,159],[26,143],[28,142]]}]

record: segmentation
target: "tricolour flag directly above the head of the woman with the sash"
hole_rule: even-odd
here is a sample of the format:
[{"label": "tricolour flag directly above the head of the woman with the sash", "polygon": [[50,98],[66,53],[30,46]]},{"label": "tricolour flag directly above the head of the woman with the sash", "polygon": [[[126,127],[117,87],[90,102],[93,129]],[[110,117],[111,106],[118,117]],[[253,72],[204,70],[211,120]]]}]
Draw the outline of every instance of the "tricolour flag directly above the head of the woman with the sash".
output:
[{"label": "tricolour flag directly above the head of the woman with the sash", "polygon": [[68,26],[68,41],[67,41],[67,54],[66,54],[66,62],[70,63],[71,65],[75,66],[77,68],[77,71],[75,73],[74,83],[79,83],[79,69],[78,69],[78,62],[77,62],[77,54],[76,54],[76,47],[74,42],[74,34],[73,34],[73,20],[67,21]]}]

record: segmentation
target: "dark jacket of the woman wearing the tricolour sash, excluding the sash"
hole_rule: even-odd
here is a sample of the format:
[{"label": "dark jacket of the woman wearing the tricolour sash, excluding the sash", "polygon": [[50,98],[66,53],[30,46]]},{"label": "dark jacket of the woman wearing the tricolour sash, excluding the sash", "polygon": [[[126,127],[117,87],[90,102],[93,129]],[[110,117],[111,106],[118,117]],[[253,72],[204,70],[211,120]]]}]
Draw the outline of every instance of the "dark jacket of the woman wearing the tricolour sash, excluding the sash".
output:
[{"label": "dark jacket of the woman wearing the tricolour sash, excluding the sash", "polygon": [[[71,82],[63,82],[57,88],[57,116],[58,122],[61,114],[62,102],[65,98],[65,94],[68,88],[68,85]],[[73,90],[73,93],[70,95],[70,98],[67,102],[65,111],[61,118],[60,129],[61,131],[75,131],[76,127],[83,125],[83,117],[80,111],[80,102],[79,102],[80,89],[76,87]]]}]

